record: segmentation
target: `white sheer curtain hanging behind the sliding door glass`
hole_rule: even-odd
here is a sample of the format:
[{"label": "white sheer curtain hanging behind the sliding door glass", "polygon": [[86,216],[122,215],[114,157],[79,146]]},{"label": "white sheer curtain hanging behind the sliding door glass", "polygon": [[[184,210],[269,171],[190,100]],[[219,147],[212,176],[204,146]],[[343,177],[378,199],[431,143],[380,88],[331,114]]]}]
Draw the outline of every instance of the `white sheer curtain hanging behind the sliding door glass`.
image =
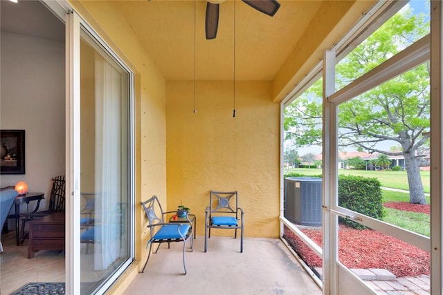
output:
[{"label": "white sheer curtain hanging behind the sliding door glass", "polygon": [[107,269],[120,254],[121,75],[96,53],[96,222],[94,268]]}]

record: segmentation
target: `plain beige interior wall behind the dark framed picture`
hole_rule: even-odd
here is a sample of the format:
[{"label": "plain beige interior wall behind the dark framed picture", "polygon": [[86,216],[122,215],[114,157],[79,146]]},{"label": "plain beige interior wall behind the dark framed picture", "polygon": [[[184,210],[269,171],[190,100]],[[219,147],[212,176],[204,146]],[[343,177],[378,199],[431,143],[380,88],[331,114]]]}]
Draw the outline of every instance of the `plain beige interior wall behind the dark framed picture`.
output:
[{"label": "plain beige interior wall behind the dark framed picture", "polygon": [[[5,31],[0,35],[0,128],[25,130],[26,158],[26,174],[1,175],[0,187],[23,180],[29,191],[45,193],[41,209],[47,208],[51,178],[65,169],[64,42]],[[21,210],[26,211],[26,204]]]}]

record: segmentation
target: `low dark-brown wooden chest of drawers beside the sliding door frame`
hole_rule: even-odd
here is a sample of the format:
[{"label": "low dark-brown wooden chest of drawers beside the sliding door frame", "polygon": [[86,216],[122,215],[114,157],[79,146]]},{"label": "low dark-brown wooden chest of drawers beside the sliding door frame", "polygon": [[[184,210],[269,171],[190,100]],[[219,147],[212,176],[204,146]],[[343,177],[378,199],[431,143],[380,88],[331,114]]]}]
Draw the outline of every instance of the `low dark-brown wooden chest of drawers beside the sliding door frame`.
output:
[{"label": "low dark-brown wooden chest of drawers beside the sliding door frame", "polygon": [[64,212],[36,218],[29,223],[28,259],[39,250],[64,250]]}]

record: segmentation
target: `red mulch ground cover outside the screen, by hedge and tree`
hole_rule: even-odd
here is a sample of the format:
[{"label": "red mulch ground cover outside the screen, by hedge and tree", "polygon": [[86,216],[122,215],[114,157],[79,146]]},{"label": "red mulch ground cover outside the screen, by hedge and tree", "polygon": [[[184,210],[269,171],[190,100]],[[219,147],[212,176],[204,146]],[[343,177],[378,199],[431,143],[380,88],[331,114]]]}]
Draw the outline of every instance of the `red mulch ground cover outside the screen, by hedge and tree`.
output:
[{"label": "red mulch ground cover outside the screen, by hedge and tree", "polygon": [[[423,212],[429,205],[390,202],[389,208]],[[386,204],[386,203],[385,203]],[[321,229],[301,229],[317,245],[322,245]],[[309,267],[321,267],[321,258],[314,254],[295,234],[284,229],[284,238]],[[372,229],[352,229],[340,225],[338,229],[338,257],[349,268],[388,269],[395,276],[430,274],[431,255],[417,247],[386,236]]]}]

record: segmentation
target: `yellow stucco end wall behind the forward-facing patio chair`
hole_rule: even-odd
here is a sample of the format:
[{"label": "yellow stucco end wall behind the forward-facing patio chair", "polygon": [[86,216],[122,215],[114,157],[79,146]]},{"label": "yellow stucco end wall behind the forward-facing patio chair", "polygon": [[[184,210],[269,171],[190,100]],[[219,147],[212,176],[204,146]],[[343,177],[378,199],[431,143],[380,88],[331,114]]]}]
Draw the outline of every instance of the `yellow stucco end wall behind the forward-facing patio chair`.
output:
[{"label": "yellow stucco end wall behind the forward-facing patio chair", "polygon": [[[183,200],[204,236],[210,190],[239,192],[246,237],[279,236],[280,104],[271,82],[167,82],[168,208]],[[211,235],[232,236],[230,231]]]}]

